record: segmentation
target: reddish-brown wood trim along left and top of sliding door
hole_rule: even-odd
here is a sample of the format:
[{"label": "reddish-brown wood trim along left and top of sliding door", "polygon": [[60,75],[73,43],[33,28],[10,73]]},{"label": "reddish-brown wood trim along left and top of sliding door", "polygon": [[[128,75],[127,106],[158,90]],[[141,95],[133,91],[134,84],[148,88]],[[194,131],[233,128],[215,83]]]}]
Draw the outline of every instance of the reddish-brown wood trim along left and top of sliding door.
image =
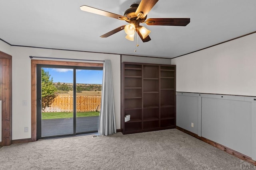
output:
[{"label": "reddish-brown wood trim along left and top of sliding door", "polygon": [[37,125],[36,125],[36,67],[37,64],[44,65],[59,65],[59,66],[77,66],[77,67],[103,67],[103,63],[81,63],[69,61],[48,61],[48,60],[31,60],[31,141],[37,140]]}]

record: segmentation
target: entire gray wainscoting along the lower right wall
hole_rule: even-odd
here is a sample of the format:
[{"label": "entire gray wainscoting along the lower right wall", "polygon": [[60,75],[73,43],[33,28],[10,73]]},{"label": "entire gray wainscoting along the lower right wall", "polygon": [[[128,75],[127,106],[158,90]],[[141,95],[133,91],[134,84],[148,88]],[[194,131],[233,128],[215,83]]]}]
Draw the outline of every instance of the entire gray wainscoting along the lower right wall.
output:
[{"label": "entire gray wainscoting along the lower right wall", "polygon": [[176,125],[256,160],[254,96],[176,92]]}]

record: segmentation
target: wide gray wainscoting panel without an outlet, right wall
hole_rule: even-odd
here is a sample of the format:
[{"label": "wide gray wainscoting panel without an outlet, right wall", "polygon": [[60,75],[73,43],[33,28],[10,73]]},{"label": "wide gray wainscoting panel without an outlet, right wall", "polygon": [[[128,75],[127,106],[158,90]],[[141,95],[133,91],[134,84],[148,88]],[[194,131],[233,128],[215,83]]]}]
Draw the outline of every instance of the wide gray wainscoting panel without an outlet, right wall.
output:
[{"label": "wide gray wainscoting panel without an outlet, right wall", "polygon": [[213,97],[202,97],[202,137],[252,157],[251,102]]}]

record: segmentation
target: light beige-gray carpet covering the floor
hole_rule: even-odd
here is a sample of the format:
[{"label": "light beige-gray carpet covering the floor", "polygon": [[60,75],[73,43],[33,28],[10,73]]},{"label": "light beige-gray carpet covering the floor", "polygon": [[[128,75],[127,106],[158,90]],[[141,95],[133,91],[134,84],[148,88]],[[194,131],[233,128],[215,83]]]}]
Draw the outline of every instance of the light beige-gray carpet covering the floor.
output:
[{"label": "light beige-gray carpet covering the floor", "polygon": [[177,129],[0,148],[1,170],[241,170],[251,164]]}]

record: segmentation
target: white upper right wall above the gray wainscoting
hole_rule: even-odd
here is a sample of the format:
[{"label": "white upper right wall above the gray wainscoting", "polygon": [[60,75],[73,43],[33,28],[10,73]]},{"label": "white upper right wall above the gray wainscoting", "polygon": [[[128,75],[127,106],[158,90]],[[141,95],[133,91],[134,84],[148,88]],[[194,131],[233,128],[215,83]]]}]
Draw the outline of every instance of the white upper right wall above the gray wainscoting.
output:
[{"label": "white upper right wall above the gray wainscoting", "polygon": [[256,96],[256,33],[172,59],[176,91]]}]

